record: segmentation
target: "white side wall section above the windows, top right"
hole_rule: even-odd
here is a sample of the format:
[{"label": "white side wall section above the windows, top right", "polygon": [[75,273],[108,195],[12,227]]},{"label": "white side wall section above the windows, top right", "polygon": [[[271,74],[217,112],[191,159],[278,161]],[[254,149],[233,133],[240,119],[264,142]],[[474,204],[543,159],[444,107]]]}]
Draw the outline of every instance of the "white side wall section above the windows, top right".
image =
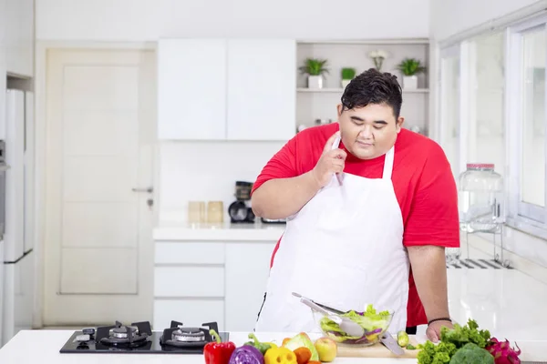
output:
[{"label": "white side wall section above the windows, top right", "polygon": [[537,0],[431,0],[431,36],[443,40],[474,26],[508,15]]}]

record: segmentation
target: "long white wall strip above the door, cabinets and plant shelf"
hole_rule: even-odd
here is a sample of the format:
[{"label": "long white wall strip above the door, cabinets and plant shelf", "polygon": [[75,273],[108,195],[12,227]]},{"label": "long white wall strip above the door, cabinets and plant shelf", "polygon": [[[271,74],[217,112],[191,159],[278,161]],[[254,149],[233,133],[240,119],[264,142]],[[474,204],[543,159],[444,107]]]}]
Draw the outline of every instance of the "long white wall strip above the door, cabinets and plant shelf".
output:
[{"label": "long white wall strip above the door, cabinets and plant shelf", "polygon": [[36,38],[427,37],[428,8],[428,0],[40,0]]}]

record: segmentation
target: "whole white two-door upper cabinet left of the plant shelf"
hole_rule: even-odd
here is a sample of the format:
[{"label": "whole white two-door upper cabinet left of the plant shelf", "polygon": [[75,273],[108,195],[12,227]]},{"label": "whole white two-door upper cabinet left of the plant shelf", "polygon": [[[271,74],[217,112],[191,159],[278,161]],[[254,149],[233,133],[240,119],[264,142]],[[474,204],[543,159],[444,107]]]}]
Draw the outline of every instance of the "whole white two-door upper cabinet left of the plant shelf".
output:
[{"label": "whole white two-door upper cabinet left of the plant shelf", "polygon": [[294,40],[160,40],[160,139],[294,136],[295,48]]}]

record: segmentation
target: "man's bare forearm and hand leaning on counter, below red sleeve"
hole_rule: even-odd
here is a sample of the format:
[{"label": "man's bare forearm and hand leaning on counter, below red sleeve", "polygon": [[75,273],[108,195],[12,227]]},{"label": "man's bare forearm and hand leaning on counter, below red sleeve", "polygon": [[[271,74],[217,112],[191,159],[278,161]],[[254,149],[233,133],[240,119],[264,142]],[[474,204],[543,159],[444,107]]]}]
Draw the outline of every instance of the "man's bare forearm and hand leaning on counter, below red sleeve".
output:
[{"label": "man's bare forearm and hand leaning on counter, below red sleeve", "polygon": [[[436,246],[408,247],[408,258],[428,320],[449,318],[445,249]],[[428,339],[437,342],[440,328],[452,329],[449,321],[435,321],[427,330]]]}]

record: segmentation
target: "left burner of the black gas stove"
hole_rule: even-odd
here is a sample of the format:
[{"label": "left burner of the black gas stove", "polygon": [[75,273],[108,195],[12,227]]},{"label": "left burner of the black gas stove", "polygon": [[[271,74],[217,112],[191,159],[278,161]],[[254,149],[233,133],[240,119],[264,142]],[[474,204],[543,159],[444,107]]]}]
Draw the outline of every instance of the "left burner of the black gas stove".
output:
[{"label": "left burner of the black gas stove", "polygon": [[116,326],[97,328],[97,339],[101,344],[123,347],[139,347],[146,345],[147,338],[152,335],[149,322],[133,323],[122,326],[116,321]]}]

